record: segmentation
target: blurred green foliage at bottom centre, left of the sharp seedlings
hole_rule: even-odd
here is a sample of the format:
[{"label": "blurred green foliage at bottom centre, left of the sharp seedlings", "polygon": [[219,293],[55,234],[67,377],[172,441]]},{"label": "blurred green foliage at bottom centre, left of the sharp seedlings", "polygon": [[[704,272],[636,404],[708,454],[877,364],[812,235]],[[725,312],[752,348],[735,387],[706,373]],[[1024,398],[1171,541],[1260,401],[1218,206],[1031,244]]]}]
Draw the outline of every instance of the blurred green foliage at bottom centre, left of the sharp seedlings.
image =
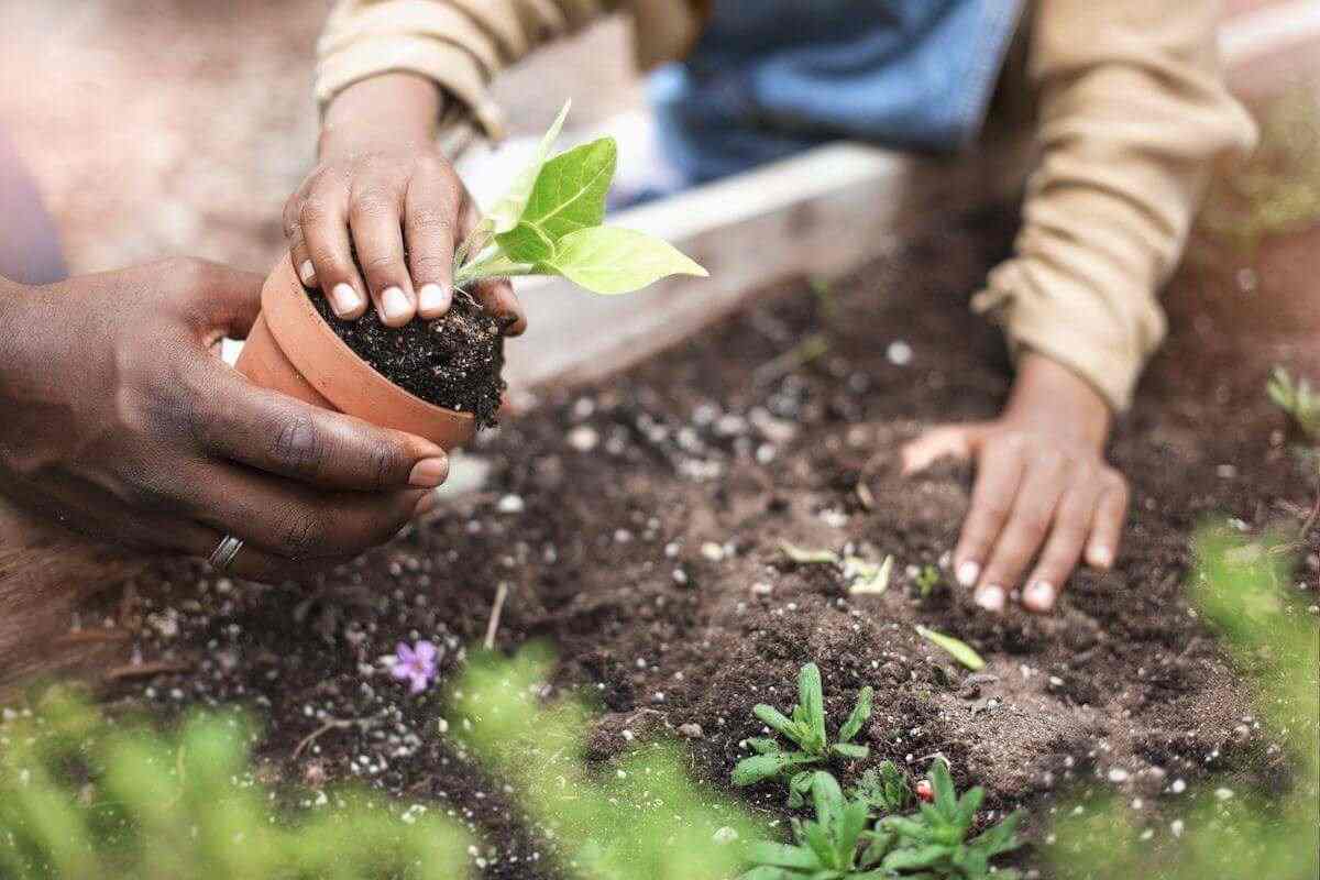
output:
[{"label": "blurred green foliage at bottom centre, left of the sharp seedlings", "polygon": [[[733,802],[696,785],[682,751],[639,741],[609,767],[585,761],[587,710],[546,705],[545,652],[477,658],[450,694],[462,735],[507,780],[520,806],[561,843],[561,867],[590,880],[723,880],[763,831]],[[451,724],[450,730],[455,726]]]}]

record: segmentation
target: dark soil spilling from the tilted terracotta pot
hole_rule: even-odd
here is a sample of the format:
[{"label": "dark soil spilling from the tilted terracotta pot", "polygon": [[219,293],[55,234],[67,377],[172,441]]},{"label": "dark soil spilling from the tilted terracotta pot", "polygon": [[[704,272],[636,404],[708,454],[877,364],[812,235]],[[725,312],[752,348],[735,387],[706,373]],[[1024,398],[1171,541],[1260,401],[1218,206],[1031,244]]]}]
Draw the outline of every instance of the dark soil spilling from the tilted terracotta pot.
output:
[{"label": "dark soil spilling from the tilted terracotta pot", "polygon": [[387,327],[375,309],[358,321],[341,321],[319,290],[308,296],[335,334],[385,379],[494,427],[506,388],[504,336],[500,321],[474,299],[458,293],[441,318]]}]

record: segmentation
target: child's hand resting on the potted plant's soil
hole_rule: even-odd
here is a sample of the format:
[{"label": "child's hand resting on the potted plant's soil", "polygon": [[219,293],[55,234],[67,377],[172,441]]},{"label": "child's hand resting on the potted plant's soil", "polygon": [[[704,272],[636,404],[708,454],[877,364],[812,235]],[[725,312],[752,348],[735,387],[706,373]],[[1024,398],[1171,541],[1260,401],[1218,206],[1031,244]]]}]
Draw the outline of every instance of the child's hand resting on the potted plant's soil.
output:
[{"label": "child's hand resting on the potted plant's soil", "polygon": [[[438,112],[437,88],[411,74],[356,83],[326,111],[321,162],[285,204],[284,231],[302,282],[319,286],[339,318],[362,317],[370,297],[380,321],[400,327],[453,302],[454,249],[480,215],[434,144]],[[516,318],[506,332],[525,329],[507,280],[474,294]]]}]

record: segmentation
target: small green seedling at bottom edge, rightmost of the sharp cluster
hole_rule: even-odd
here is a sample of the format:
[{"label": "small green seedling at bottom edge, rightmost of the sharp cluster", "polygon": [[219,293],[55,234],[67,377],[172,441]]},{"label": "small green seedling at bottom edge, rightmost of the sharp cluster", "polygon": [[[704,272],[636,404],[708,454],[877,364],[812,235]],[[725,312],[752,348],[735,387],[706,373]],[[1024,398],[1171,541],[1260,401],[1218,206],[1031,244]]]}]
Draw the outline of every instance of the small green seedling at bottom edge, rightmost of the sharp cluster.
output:
[{"label": "small green seedling at bottom edge, rightmost of the sharp cluster", "polygon": [[891,835],[892,848],[880,863],[882,867],[894,876],[932,880],[1016,877],[1015,871],[994,871],[990,860],[1022,846],[1016,834],[1019,814],[1008,815],[969,840],[977,810],[985,800],[985,789],[977,786],[960,798],[942,760],[931,765],[929,777],[935,796],[932,803],[923,803],[921,811],[913,815],[891,815],[876,823],[878,833]]}]

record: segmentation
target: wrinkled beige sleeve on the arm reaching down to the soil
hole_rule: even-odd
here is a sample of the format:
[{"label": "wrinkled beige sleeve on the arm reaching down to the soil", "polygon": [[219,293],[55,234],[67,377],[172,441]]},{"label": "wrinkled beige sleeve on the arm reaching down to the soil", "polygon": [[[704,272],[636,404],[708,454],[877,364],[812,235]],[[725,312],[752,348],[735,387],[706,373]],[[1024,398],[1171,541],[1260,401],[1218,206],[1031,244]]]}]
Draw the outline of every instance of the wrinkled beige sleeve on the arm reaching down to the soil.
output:
[{"label": "wrinkled beige sleeve on the arm reaching down to the soil", "polygon": [[1043,0],[1030,49],[1040,158],[1015,256],[974,307],[1014,351],[1125,409],[1164,336],[1156,298],[1212,161],[1255,129],[1220,77],[1213,0]]}]

